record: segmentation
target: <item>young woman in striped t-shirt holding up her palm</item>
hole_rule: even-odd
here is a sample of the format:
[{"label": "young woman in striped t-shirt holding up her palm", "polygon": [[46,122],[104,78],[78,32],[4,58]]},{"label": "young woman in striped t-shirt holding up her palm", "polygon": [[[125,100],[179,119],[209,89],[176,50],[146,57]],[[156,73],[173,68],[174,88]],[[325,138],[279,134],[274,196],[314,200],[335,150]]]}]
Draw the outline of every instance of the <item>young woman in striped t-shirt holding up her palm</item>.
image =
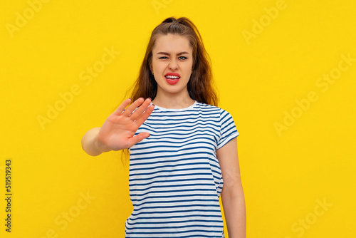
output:
[{"label": "young woman in striped t-shirt holding up her palm", "polygon": [[238,135],[217,107],[199,31],[187,18],[170,17],[152,31],[132,97],[88,130],[82,146],[93,156],[130,151],[134,209],[126,237],[224,237],[221,195],[229,237],[242,238]]}]

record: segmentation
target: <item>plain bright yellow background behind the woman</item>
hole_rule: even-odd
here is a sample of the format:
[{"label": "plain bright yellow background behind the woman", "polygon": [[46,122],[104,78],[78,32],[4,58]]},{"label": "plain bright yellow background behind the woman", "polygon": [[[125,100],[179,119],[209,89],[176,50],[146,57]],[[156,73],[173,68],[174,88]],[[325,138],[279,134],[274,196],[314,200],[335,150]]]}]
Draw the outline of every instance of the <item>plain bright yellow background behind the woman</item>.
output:
[{"label": "plain bright yellow background behind the woman", "polygon": [[[277,6],[272,19],[265,8]],[[128,166],[120,152],[86,155],[80,140],[122,102],[150,33],[169,16],[197,25],[219,106],[240,133],[247,237],[355,237],[356,62],[327,90],[317,86],[337,73],[342,55],[356,58],[355,1],[53,0],[32,17],[28,8],[25,0],[0,3],[1,237],[124,237]],[[24,14],[27,22],[11,33],[9,24]],[[81,80],[105,48],[120,53],[93,81]],[[38,115],[75,85],[80,93],[41,128]],[[298,109],[295,100],[311,91],[318,99]],[[276,123],[292,111],[298,118],[278,133]],[[11,234],[4,227],[8,158]]]}]

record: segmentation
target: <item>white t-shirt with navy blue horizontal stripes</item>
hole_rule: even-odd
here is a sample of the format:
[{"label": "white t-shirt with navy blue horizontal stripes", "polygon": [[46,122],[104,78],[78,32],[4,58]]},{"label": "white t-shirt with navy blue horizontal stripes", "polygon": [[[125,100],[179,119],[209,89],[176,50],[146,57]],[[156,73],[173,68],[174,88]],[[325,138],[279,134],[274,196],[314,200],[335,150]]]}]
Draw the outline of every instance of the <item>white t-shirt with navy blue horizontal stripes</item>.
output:
[{"label": "white t-shirt with navy blue horizontal stripes", "polygon": [[194,102],[155,105],[136,134],[150,137],[130,150],[126,237],[224,237],[219,196],[223,180],[216,150],[239,135],[231,115]]}]

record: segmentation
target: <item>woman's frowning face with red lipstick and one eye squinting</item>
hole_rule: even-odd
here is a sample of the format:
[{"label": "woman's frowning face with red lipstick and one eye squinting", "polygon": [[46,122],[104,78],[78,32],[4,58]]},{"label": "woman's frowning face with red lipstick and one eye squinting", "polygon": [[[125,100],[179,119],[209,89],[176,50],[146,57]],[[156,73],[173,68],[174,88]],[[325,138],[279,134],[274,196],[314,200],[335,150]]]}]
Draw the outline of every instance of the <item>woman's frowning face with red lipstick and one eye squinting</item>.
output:
[{"label": "woman's frowning face with red lipstick and one eye squinting", "polygon": [[192,67],[192,47],[187,37],[171,33],[157,37],[152,48],[151,67],[157,82],[157,94],[163,91],[184,93]]}]

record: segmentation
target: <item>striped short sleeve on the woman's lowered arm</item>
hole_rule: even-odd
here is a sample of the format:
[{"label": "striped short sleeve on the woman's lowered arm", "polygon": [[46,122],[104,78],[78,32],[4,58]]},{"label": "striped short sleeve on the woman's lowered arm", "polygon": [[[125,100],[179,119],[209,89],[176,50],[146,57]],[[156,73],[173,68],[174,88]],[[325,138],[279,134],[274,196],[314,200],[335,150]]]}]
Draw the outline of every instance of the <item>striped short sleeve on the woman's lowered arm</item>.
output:
[{"label": "striped short sleeve on the woman's lowered arm", "polygon": [[220,138],[216,149],[220,149],[230,140],[236,138],[239,132],[236,130],[234,118],[226,110],[220,110]]}]

